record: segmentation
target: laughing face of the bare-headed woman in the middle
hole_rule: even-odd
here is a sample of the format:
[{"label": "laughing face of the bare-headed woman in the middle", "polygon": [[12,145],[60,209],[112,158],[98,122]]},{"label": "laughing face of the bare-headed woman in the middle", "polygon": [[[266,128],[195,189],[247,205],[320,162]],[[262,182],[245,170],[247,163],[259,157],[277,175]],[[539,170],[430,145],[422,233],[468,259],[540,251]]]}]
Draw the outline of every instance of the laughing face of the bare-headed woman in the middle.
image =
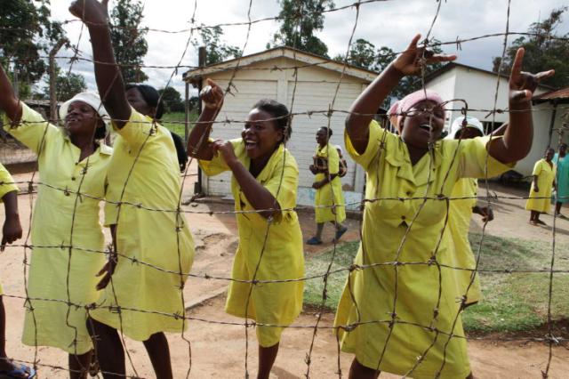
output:
[{"label": "laughing face of the bare-headed woman in the middle", "polygon": [[245,143],[247,156],[252,160],[270,157],[283,141],[283,131],[276,126],[270,113],[253,108],[244,125],[241,137]]}]

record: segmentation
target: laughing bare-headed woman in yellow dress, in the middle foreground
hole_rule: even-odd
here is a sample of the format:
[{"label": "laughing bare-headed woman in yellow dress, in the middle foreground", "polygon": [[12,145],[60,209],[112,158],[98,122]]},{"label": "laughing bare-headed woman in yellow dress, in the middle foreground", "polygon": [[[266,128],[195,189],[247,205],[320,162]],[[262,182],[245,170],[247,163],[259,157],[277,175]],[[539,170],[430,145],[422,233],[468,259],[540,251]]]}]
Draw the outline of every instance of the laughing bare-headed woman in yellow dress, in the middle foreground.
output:
[{"label": "laughing bare-headed woman in yellow dress, in the middle foreground", "polygon": [[[231,192],[238,213],[239,246],[233,262],[225,310],[254,319],[259,341],[258,378],[268,378],[281,333],[302,310],[303,281],[258,283],[304,276],[302,233],[296,206],[299,170],[284,143],[292,128],[288,109],[272,100],[258,101],[249,112],[240,139],[208,141],[223,92],[209,81],[205,109],[188,139],[188,153],[200,159],[208,175],[231,171]],[[259,211],[258,213],[251,211]],[[249,212],[248,212],[249,211]],[[264,326],[268,325],[268,326]],[[272,327],[279,326],[279,327]]]}]

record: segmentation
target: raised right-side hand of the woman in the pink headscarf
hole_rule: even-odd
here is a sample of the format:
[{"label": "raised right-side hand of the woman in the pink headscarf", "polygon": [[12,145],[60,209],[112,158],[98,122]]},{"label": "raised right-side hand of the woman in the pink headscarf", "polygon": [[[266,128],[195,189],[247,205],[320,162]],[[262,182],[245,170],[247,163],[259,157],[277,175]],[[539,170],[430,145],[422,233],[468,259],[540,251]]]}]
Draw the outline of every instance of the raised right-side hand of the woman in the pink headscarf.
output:
[{"label": "raised right-side hand of the woman in the pink headscarf", "polygon": [[509,102],[510,104],[519,104],[525,101],[531,101],[533,92],[540,84],[541,80],[551,77],[555,74],[554,69],[541,71],[537,74],[522,71],[522,62],[524,60],[525,50],[523,47],[517,49],[516,58],[512,65],[512,72],[509,75]]}]

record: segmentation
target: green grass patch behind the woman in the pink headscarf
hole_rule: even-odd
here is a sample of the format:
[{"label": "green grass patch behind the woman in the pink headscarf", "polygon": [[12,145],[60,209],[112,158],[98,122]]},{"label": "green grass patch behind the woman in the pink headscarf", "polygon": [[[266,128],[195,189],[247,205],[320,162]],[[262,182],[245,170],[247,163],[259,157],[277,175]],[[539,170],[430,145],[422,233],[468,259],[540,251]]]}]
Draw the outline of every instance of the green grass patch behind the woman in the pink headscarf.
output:
[{"label": "green grass patch behind the woman in the pink headscarf", "polygon": [[[480,236],[470,235],[477,254]],[[332,270],[351,264],[357,253],[357,242],[337,247]],[[333,256],[325,251],[307,261],[307,276],[322,274]],[[480,270],[549,270],[551,244],[544,241],[485,236]],[[569,270],[569,245],[557,244],[555,270]],[[348,271],[333,274],[328,279],[325,306],[335,310]],[[553,277],[551,313],[553,319],[569,319],[569,274]],[[483,299],[462,314],[464,327],[470,332],[519,332],[540,327],[547,319],[549,273],[480,273]],[[320,305],[322,279],[308,280],[304,302]]]}]

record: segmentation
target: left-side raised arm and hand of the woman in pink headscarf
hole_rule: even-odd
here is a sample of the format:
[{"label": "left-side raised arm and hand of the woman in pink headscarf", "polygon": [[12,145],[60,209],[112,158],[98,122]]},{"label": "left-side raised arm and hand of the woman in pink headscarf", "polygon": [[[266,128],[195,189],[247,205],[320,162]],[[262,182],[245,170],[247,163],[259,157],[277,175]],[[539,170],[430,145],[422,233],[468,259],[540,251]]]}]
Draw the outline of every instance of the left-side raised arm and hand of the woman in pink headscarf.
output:
[{"label": "left-side raised arm and hand of the woman in pink headscarf", "polygon": [[369,124],[373,114],[381,106],[389,93],[397,86],[405,75],[417,75],[421,73],[423,63],[435,63],[455,60],[456,55],[436,55],[424,47],[417,47],[421,35],[413,37],[413,41],[405,52],[392,61],[387,69],[384,69],[379,77],[373,80],[371,85],[365,88],[349,109],[346,118],[346,131],[352,145],[359,154],[363,154],[369,140]]}]

